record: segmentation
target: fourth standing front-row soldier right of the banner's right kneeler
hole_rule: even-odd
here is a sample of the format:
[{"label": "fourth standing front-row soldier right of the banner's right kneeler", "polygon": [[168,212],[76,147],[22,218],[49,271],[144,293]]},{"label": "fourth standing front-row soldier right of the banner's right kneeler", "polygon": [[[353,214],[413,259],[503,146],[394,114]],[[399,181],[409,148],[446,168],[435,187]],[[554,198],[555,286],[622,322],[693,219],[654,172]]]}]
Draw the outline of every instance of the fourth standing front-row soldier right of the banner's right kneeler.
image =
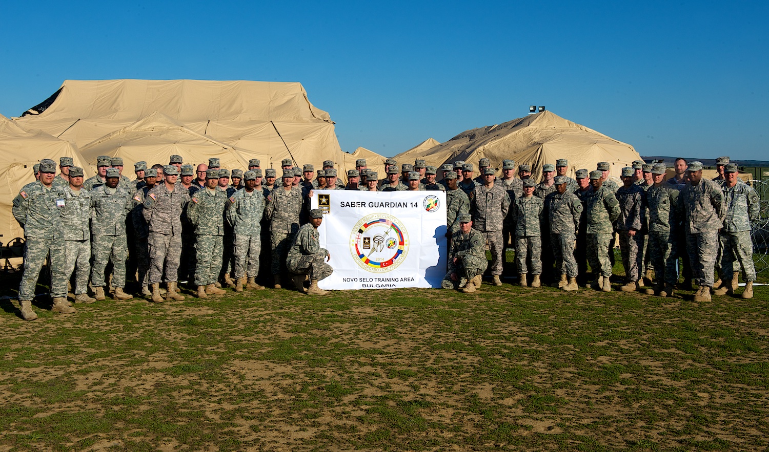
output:
[{"label": "fourth standing front-row soldier right of the banner's right kneeler", "polygon": [[601,170],[591,171],[590,184],[593,193],[585,196],[585,231],[588,241],[588,261],[595,278],[594,289],[611,292],[611,261],[609,251],[614,236],[612,223],[620,216],[620,203],[614,190],[604,186]]}]

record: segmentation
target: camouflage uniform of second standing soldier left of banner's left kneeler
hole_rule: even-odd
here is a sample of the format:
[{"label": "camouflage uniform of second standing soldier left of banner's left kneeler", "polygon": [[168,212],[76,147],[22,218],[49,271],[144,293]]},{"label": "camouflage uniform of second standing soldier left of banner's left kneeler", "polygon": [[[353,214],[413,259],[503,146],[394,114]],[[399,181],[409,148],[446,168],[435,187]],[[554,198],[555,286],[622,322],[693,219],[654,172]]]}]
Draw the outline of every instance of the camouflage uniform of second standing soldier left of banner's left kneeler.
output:
[{"label": "camouflage uniform of second standing soldier left of banner's left kneeler", "polygon": [[235,233],[235,279],[247,275],[256,278],[261,254],[261,217],[265,196],[261,190],[248,193],[238,190],[230,196],[225,208],[227,222]]}]

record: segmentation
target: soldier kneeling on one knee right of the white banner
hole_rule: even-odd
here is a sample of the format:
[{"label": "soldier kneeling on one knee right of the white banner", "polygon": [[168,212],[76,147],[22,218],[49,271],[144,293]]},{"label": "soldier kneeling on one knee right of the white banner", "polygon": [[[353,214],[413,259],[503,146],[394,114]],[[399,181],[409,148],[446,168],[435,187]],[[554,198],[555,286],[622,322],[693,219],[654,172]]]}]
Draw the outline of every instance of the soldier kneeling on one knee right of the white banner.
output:
[{"label": "soldier kneeling on one knee right of the white banner", "polygon": [[458,218],[459,230],[451,236],[448,248],[448,272],[441,281],[443,289],[461,289],[463,293],[481,288],[481,276],[488,261],[484,250],[484,238],[474,229],[469,213]]}]

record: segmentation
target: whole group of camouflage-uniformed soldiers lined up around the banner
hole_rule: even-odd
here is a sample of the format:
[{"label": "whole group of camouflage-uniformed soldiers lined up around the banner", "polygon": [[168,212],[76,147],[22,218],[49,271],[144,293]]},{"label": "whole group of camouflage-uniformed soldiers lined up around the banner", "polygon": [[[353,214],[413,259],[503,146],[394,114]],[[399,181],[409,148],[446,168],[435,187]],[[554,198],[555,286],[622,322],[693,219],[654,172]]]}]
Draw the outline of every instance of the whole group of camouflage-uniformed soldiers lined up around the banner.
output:
[{"label": "whole group of camouflage-uniformed soldiers lined up around the banner", "polygon": [[277,171],[263,171],[258,159],[244,172],[222,169],[217,158],[194,168],[174,155],[168,165],[135,163],[134,180],[122,174],[120,157],[98,157],[98,173],[88,180],[71,157],[60,159],[58,175],[55,162],[43,160],[35,165],[36,181],[13,202],[25,229],[22,317],[37,318],[32,299],[46,258],[54,312],[75,312],[67,299],[70,280],[75,302],[104,300],[106,286],[114,299],[131,299],[127,275],[152,302],[163,302],[162,295],[184,299],[179,280],[192,282],[195,295],[205,298],[225,293],[223,285],[236,292],[264,289],[258,279],[281,289],[283,275],[301,292],[325,294],[318,281],[333,269],[326,263],[330,252],[319,246],[322,213],[309,208],[313,190],[444,191],[446,289],[474,292],[487,269],[492,283],[501,285],[504,250],[511,245],[521,285],[553,282],[577,290],[589,261],[594,289],[608,292],[616,234],[627,279],[623,291],[641,289],[644,270],[649,275],[654,269],[654,286],[645,292],[673,295],[681,257],[684,285],[694,277],[700,287],[694,299],[705,301],[718,257],[721,283],[715,293],[733,292],[742,269],[742,296],[750,298],[756,192],[737,179],[736,165],[727,157],[718,160],[721,176],[713,181],[701,178],[702,163],[680,160],[676,177],[667,182],[664,163],[636,161],[623,168],[622,186],[608,177],[607,162],[594,171],[578,170],[571,179],[565,159],[544,164],[541,183],[531,178],[528,164],[518,166],[515,177],[513,160],[503,161],[499,179],[486,158],[478,162],[478,177],[472,163],[446,163],[437,181],[438,168],[424,160],[399,166],[388,159],[380,180],[360,159],[346,173],[346,184],[330,160],[317,173],[312,165],[299,168],[282,160],[279,180]]}]

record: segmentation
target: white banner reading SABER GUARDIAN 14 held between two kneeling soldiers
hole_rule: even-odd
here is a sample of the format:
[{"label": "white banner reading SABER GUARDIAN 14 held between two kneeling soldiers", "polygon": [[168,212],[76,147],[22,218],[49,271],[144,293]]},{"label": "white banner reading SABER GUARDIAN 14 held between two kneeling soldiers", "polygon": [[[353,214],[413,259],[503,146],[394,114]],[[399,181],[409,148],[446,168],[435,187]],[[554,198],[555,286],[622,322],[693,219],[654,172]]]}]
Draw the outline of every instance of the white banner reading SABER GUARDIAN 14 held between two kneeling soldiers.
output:
[{"label": "white banner reading SABER GUARDIAN 14 held between two kneeling soldiers", "polygon": [[321,289],[441,287],[446,275],[446,193],[314,190],[313,209],[334,273]]}]

